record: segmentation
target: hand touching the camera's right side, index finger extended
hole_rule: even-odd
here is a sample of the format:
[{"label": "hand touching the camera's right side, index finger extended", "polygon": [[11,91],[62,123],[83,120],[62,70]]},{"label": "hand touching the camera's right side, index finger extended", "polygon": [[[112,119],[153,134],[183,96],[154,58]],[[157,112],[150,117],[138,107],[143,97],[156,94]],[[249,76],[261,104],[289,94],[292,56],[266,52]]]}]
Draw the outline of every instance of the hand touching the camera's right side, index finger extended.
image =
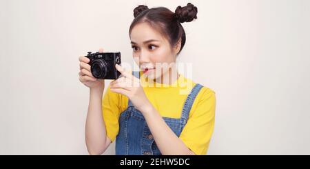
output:
[{"label": "hand touching the camera's right side, index finger extended", "polygon": [[126,72],[121,66],[116,64],[116,70],[121,72],[123,77],[110,83],[110,90],[127,96],[136,109],[145,112],[152,104],[147,99],[141,86],[140,79],[134,77],[130,72]]}]

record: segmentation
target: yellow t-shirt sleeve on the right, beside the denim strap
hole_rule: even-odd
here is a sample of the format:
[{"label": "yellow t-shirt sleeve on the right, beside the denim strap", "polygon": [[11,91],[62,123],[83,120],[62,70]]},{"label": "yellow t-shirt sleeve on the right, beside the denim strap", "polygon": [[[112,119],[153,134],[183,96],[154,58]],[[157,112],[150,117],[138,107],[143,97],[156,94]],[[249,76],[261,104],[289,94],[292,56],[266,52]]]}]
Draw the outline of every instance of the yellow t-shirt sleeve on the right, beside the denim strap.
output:
[{"label": "yellow t-shirt sleeve on the right, beside the denim strap", "polygon": [[200,92],[192,106],[191,111],[194,112],[183,128],[180,139],[196,155],[206,155],[214,130],[216,97],[215,92],[209,88]]}]

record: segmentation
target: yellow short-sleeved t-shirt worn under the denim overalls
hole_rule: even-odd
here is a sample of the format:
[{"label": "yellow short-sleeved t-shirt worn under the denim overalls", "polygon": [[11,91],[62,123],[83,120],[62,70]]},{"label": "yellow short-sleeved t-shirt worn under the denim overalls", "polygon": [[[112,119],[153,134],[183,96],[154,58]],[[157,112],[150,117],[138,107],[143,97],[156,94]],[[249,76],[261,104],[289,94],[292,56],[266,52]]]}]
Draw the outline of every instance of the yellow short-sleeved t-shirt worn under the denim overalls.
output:
[{"label": "yellow short-sleeved t-shirt worn under the denim overalls", "polygon": [[[190,90],[196,83],[180,74],[178,79],[168,86],[158,86],[160,83],[147,81],[141,74],[141,86],[147,99],[162,117],[179,119],[183,104]],[[110,84],[103,96],[103,119],[107,130],[107,137],[114,141],[118,135],[118,118],[126,110],[128,98],[125,95],[112,92]],[[205,155],[214,130],[216,97],[215,92],[207,87],[201,88],[189,112],[189,119],[180,134],[185,145],[196,153]]]}]

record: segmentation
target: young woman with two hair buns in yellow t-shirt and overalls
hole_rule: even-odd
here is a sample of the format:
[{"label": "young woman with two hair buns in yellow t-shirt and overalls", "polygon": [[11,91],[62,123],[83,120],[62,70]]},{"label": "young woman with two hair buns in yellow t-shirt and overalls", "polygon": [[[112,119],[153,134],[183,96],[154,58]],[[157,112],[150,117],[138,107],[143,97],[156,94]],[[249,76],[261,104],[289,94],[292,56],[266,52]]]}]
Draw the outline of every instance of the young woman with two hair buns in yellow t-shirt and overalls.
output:
[{"label": "young woman with two hair buns in yellow t-shirt and overalls", "polygon": [[[129,33],[141,71],[131,73],[116,65],[122,76],[110,83],[104,96],[104,81],[92,76],[89,59],[79,58],[79,79],[90,88],[85,139],[91,155],[102,154],[112,141],[116,155],[207,153],[214,130],[215,92],[185,78],[173,64],[185,45],[181,23],[193,21],[196,14],[191,3],[175,12],[136,7]],[[187,95],[181,94],[186,88]]]}]

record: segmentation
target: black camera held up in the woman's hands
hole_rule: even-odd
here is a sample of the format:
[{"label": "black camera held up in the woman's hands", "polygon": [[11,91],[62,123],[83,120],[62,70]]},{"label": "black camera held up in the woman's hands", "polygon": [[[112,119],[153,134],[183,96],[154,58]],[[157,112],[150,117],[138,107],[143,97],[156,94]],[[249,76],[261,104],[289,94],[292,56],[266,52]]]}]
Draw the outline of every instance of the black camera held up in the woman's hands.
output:
[{"label": "black camera held up in the woman's hands", "polygon": [[115,65],[121,65],[121,52],[87,52],[90,59],[90,70],[96,79],[118,79],[121,72]]}]

